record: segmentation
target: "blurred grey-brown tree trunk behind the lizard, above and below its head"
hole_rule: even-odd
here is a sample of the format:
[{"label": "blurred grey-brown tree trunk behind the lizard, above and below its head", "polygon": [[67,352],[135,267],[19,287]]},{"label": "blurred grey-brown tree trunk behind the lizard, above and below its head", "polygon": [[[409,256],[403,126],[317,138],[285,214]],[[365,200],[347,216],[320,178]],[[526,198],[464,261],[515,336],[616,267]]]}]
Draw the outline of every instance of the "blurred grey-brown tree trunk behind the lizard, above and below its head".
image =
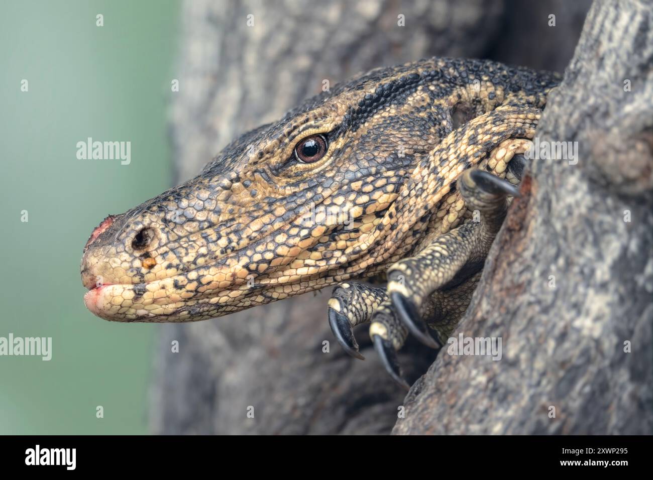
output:
[{"label": "blurred grey-brown tree trunk behind the lizard, above and below its head", "polygon": [[[523,7],[514,3],[188,1],[172,110],[178,180],[197,174],[232,138],[318,93],[325,79],[334,84],[358,71],[436,55],[562,69],[588,1],[550,3],[565,19],[547,32],[556,39],[550,45],[535,37],[549,11],[533,3],[532,16],[522,18]],[[398,27],[399,14],[406,27]],[[524,31],[524,24],[533,28]],[[365,362],[340,351],[327,325],[327,298],[323,291],[214,321],[159,326],[153,432],[389,433],[404,392],[377,361],[365,329],[357,332]],[[170,352],[172,340],[179,340],[180,353]],[[323,353],[323,340],[330,353]],[[400,360],[415,379],[434,357],[409,343]],[[248,406],[254,419],[246,417]]]}]

